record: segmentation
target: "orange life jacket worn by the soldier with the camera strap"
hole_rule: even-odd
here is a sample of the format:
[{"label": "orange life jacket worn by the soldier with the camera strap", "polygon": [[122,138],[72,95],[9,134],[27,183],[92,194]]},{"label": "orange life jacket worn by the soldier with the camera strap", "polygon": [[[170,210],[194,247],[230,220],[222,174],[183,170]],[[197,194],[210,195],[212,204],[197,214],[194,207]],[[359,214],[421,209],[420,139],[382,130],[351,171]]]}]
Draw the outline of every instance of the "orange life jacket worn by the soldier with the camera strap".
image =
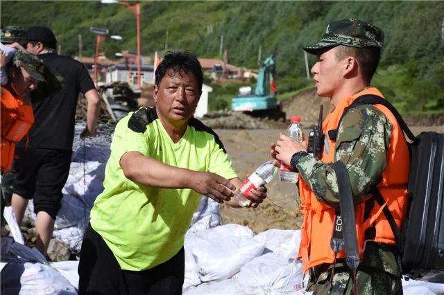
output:
[{"label": "orange life jacket worn by the soldier with the camera strap", "polygon": [[[332,163],[334,161],[335,141],[330,140],[327,135],[329,130],[337,129],[341,115],[355,98],[364,94],[382,94],[375,88],[368,88],[348,96],[342,100],[325,118],[323,122],[323,132],[325,135],[324,151],[321,161]],[[390,209],[396,224],[398,226],[404,221],[407,215],[407,181],[410,171],[410,157],[407,142],[404,133],[398,125],[395,116],[382,105],[375,105],[388,118],[393,126],[391,138],[386,151],[387,166],[382,172],[382,181],[377,188],[384,197],[384,206]],[[313,191],[299,177],[299,194],[301,199],[301,211],[304,213],[304,220],[301,229],[301,242],[298,258],[302,258],[302,267],[304,271],[316,265],[323,263],[331,264],[334,262],[334,252],[330,248],[330,240],[333,234],[334,226],[334,208],[325,203],[318,202]],[[386,244],[395,244],[395,238],[390,224],[386,220],[382,209],[384,206],[373,200],[374,205],[370,211],[369,217],[364,220],[364,208],[367,202],[362,202],[355,206],[356,229],[358,238],[359,255],[363,259],[365,231],[371,226],[375,226],[375,242]],[[345,251],[339,252],[337,258],[344,258]]]}]

